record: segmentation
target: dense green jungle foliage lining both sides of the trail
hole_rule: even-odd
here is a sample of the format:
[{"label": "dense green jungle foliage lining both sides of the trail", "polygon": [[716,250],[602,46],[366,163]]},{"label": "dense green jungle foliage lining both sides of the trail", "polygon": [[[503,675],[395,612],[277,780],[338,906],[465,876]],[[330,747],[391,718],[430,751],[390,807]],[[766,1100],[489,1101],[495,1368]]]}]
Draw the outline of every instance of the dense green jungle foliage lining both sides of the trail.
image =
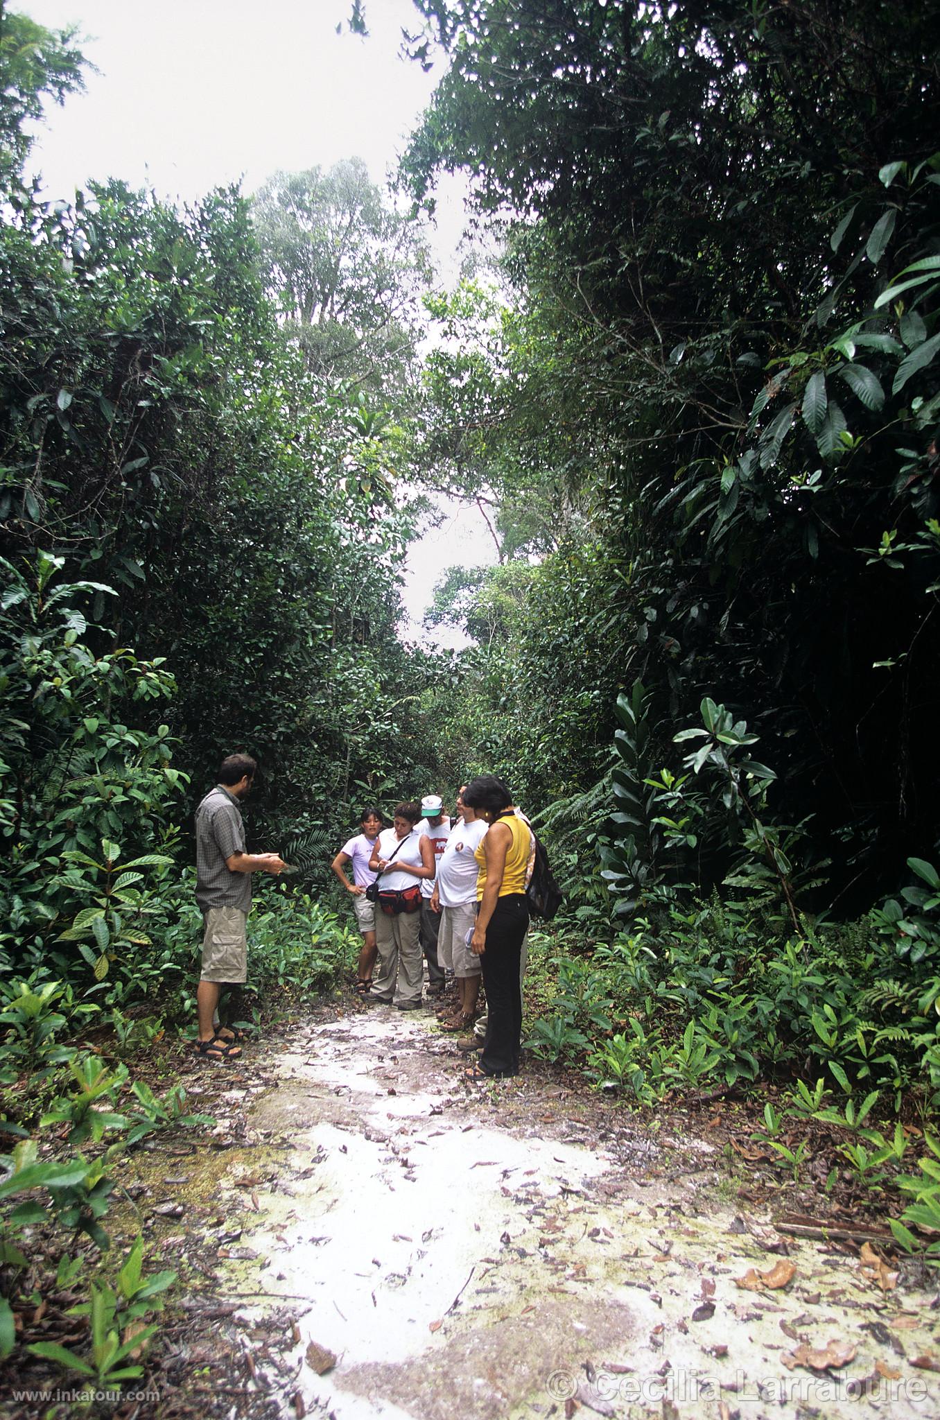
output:
[{"label": "dense green jungle foliage lining both sides of the trail", "polygon": [[[356,160],[45,202],[24,121],[84,61],[0,7],[7,1193],[40,1116],[124,1127],[67,1039],[192,1010],[187,825],[234,750],[251,843],[305,873],[256,987],[351,956],[327,863],[364,802],[497,771],[567,893],[532,1048],[642,1103],[934,1110],[939,9],[415,3],[410,213]],[[459,169],[488,246],[443,290]],[[429,609],[457,653],[398,635],[440,491],[498,542]],[[85,1164],[45,1184],[99,1241]]]}]

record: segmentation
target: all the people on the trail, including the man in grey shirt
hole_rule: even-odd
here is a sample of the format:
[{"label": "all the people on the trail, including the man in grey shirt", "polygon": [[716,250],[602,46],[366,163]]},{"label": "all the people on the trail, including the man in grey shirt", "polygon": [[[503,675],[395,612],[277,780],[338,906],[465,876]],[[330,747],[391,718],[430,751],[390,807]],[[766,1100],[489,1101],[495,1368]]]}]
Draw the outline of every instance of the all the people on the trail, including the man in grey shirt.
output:
[{"label": "all the people on the trail, including the man in grey shirt", "polygon": [[[240,804],[256,772],[250,755],[230,754],[196,811],[196,902],[204,933],[195,1049],[213,1061],[241,1054],[234,1022],[247,976],[251,875],[278,876],[287,868],[277,853],[246,852]],[[362,934],[356,991],[369,1005],[415,1011],[423,960],[432,998],[443,995],[452,977],[456,1001],[442,1010],[440,1024],[454,1032],[476,1024],[481,1054],[467,1072],[471,1079],[518,1074],[532,858],[528,822],[501,780],[483,775],[461,787],[453,824],[437,794],[399,804],[390,828],[376,808],[366,808],[361,832],[332,861]],[[480,981],[487,1010],[477,1018]],[[220,1024],[226,987],[227,1024]]]}]

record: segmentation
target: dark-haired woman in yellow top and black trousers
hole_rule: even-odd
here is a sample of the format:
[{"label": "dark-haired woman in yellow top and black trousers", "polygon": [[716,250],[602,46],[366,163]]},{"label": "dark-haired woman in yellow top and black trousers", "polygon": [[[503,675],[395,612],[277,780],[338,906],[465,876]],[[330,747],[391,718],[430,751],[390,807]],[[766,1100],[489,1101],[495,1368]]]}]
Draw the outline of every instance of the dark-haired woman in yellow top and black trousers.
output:
[{"label": "dark-haired woman in yellow top and black trousers", "polygon": [[513,811],[513,797],[501,780],[487,774],[471,780],[463,801],[490,828],[476,851],[477,922],[470,950],[480,957],[487,995],[487,1032],[480,1064],[470,1078],[504,1079],[518,1075],[523,1034],[520,956],[528,927],[525,875],[531,834]]}]

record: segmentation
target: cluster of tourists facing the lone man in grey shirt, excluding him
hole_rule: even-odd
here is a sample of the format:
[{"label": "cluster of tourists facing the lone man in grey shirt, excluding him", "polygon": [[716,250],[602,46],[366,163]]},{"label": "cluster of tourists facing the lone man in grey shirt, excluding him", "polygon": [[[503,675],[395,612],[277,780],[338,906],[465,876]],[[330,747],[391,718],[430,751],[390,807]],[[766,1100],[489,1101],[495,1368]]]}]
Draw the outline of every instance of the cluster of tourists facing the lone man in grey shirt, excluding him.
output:
[{"label": "cluster of tourists facing the lone man in grey shirt, excluding him", "polygon": [[369,1004],[417,1010],[425,958],[432,998],[449,974],[456,984],[442,1030],[463,1031],[476,1024],[483,978],[483,1049],[469,1074],[517,1075],[534,842],[508,790],[484,775],[461,787],[453,824],[440,795],[427,794],[420,804],[399,804],[390,828],[368,808],[361,829],[332,861],[362,933],[356,990]]}]

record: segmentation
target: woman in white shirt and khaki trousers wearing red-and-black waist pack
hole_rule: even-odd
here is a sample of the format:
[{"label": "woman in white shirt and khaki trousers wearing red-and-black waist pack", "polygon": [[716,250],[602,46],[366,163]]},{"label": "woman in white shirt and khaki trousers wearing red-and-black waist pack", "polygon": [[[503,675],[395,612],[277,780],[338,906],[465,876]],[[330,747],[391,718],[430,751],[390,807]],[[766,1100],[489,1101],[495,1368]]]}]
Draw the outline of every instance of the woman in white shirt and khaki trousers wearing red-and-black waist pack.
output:
[{"label": "woman in white shirt and khaki trousers wearing red-and-black waist pack", "polygon": [[366,1001],[417,1011],[422,1004],[420,879],[435,876],[435,849],[415,826],[419,804],[399,804],[383,829],[369,868],[379,873],[375,937],[379,953]]}]

